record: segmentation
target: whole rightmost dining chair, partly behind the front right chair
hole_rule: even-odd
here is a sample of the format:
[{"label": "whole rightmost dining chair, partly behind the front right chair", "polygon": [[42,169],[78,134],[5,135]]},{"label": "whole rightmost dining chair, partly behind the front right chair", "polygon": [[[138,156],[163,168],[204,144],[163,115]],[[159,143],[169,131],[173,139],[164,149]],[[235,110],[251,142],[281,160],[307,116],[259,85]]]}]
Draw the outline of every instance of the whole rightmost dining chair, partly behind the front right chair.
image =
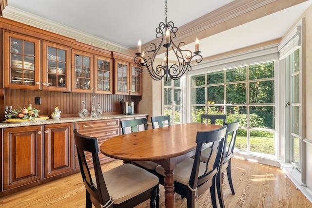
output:
[{"label": "whole rightmost dining chair, partly behind the front right chair", "polygon": [[[219,198],[221,208],[223,208],[222,205],[224,205],[223,194],[222,194],[222,183],[223,183],[225,170],[227,172],[228,181],[230,184],[232,194],[235,194],[233,182],[232,182],[232,174],[231,174],[231,158],[232,158],[233,151],[234,151],[236,134],[237,134],[238,127],[239,127],[239,121],[235,121],[233,123],[225,123],[225,125],[228,127],[227,132],[226,132],[226,139],[227,139],[227,141],[230,141],[230,142],[229,142],[229,147],[226,148],[226,150],[224,152],[223,163],[220,167],[220,171],[219,171],[218,176],[217,176],[217,193],[218,193],[218,198]],[[203,150],[201,153],[200,160],[202,162],[207,161],[210,153],[211,153],[211,148],[207,148],[207,149]]]}]

